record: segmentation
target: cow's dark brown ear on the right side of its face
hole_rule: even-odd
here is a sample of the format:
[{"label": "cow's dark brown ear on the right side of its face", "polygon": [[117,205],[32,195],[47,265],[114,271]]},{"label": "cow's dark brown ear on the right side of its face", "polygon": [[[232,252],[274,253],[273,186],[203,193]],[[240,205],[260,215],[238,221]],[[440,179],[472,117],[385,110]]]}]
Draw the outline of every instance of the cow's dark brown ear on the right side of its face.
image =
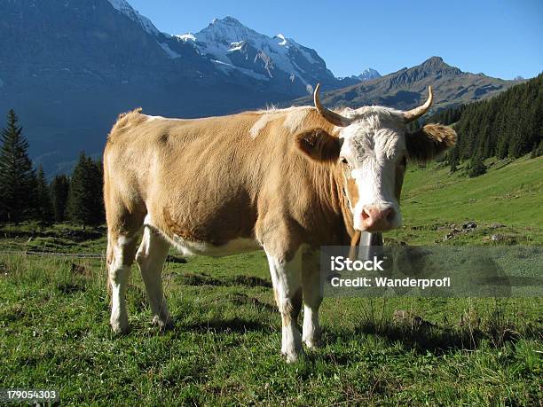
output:
[{"label": "cow's dark brown ear on the right side of its face", "polygon": [[456,144],[456,132],[441,124],[427,124],[414,133],[406,133],[405,144],[411,160],[426,162],[453,147]]}]

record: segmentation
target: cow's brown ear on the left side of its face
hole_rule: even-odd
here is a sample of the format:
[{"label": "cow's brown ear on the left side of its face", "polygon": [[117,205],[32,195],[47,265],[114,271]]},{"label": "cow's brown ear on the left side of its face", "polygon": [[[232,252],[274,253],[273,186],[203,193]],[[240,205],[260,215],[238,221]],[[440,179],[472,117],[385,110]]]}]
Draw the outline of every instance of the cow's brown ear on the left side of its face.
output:
[{"label": "cow's brown ear on the left side of its face", "polygon": [[312,160],[334,161],[340,153],[340,139],[324,129],[304,130],[295,136],[296,145]]}]

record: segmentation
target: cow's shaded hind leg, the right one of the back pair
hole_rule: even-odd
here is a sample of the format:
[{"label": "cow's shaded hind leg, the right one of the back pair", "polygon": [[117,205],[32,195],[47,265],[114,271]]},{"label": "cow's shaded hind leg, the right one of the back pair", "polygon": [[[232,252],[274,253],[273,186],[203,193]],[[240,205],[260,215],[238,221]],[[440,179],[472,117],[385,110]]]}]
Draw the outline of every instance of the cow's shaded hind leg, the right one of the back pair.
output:
[{"label": "cow's shaded hind leg, the right one of the back pair", "polygon": [[146,284],[147,297],[153,313],[153,324],[165,329],[172,325],[166,298],[162,290],[162,268],[168,255],[169,244],[146,226],[136,254],[141,276]]}]

